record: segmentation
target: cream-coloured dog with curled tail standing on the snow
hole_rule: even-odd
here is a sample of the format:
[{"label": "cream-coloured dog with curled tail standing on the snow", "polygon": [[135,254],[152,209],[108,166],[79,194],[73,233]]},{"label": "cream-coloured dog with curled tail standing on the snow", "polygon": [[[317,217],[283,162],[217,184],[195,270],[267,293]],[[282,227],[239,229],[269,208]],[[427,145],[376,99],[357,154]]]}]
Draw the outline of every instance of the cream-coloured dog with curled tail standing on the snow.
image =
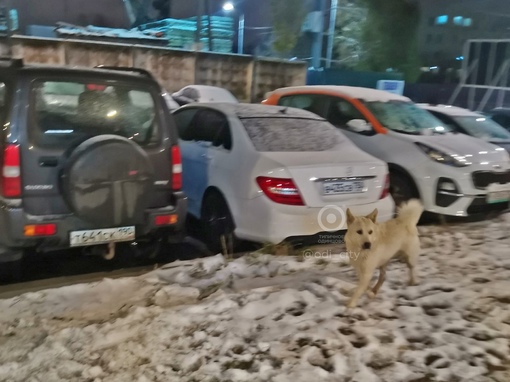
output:
[{"label": "cream-coloured dog with curled tail standing on the snow", "polygon": [[[347,209],[347,233],[345,244],[350,263],[358,276],[358,285],[354,289],[347,305],[354,308],[363,293],[374,298],[386,276],[386,265],[396,256],[401,256],[409,268],[409,285],[416,285],[415,266],[420,254],[420,239],[416,225],[423,213],[420,201],[413,199],[398,209],[396,218],[384,223],[376,223],[377,209],[363,217],[355,217]],[[377,284],[369,289],[374,271],[379,269]]]}]

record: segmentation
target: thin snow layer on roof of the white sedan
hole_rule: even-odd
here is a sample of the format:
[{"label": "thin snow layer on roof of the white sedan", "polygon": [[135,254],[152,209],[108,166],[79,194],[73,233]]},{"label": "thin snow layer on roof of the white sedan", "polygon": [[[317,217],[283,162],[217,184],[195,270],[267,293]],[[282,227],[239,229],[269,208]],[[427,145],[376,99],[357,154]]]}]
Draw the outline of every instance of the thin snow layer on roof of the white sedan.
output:
[{"label": "thin snow layer on roof of the white sedan", "polygon": [[319,117],[312,112],[286,106],[269,106],[254,103],[224,103],[224,102],[207,102],[207,103],[194,103],[187,106],[207,106],[220,110],[223,113],[237,118],[277,118],[277,117],[292,117],[292,118],[307,118],[315,119],[318,121],[325,121],[324,118]]}]

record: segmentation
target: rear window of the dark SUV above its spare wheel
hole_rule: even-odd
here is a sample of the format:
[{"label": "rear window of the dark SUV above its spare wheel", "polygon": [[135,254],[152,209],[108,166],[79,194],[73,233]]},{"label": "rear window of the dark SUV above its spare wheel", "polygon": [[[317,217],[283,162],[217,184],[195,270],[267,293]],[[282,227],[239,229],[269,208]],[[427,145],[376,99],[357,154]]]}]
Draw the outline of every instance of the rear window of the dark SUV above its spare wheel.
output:
[{"label": "rear window of the dark SUV above its spare wheel", "polygon": [[158,142],[156,103],[148,89],[39,81],[32,94],[30,134],[37,146],[67,147],[102,134],[121,135],[142,146]]}]

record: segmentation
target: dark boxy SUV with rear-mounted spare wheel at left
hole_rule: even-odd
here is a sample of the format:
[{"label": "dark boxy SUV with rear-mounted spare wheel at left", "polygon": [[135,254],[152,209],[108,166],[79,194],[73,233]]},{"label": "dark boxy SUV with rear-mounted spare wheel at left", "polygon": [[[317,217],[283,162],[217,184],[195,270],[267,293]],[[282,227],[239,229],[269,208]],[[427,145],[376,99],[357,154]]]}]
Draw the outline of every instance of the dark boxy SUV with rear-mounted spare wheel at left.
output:
[{"label": "dark boxy SUV with rear-mounted spare wheel at left", "polygon": [[25,250],[152,246],[186,215],[177,129],[135,68],[0,61],[0,269]]}]

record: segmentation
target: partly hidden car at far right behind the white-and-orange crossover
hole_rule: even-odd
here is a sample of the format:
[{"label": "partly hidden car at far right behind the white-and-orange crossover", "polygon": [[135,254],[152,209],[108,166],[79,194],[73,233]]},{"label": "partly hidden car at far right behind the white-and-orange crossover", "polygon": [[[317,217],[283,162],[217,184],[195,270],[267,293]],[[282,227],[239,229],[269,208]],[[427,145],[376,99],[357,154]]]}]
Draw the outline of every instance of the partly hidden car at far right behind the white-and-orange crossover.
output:
[{"label": "partly hidden car at far right behind the white-and-orange crossover", "polygon": [[510,152],[510,132],[489,117],[450,105],[418,104],[418,106],[432,113],[451,131],[483,139]]}]

